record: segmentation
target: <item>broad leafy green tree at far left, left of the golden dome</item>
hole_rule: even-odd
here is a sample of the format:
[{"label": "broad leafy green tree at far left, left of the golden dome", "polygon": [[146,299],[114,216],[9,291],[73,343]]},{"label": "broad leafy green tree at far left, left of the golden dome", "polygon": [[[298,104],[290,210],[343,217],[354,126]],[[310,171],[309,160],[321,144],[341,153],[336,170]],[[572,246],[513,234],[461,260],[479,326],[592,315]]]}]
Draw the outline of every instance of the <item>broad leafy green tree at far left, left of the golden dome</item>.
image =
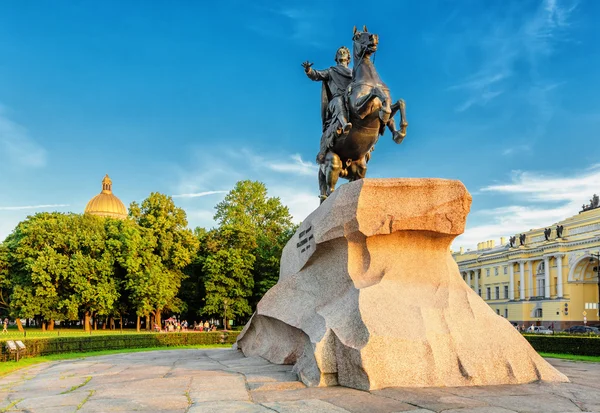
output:
[{"label": "broad leafy green tree at far left, left of the golden dome", "polygon": [[21,222],[5,241],[15,318],[90,318],[118,299],[114,259],[105,248],[103,221],[88,215],[40,213]]}]

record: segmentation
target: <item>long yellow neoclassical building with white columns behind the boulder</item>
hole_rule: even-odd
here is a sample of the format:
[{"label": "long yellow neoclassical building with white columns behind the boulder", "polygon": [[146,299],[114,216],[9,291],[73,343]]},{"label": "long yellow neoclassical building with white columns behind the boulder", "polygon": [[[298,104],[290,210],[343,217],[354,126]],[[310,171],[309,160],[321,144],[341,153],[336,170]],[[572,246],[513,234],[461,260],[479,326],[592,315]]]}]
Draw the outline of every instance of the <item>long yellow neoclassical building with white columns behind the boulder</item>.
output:
[{"label": "long yellow neoclassical building with white columns behind the boulder", "polygon": [[597,303],[600,207],[594,196],[572,217],[548,228],[481,242],[454,252],[465,282],[513,323],[561,330],[600,324]]}]

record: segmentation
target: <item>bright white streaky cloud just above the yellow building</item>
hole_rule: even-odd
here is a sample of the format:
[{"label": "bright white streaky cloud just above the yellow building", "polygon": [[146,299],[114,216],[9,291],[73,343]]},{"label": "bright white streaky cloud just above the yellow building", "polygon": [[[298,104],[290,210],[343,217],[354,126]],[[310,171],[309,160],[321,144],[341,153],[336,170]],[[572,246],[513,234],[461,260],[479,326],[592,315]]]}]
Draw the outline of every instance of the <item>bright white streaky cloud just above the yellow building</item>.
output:
[{"label": "bright white streaky cloud just above the yellow building", "polygon": [[577,214],[600,191],[600,165],[568,176],[514,171],[510,182],[488,185],[481,193],[502,195],[514,201],[472,213],[482,224],[468,226],[454,245],[473,247],[478,242],[545,228]]}]

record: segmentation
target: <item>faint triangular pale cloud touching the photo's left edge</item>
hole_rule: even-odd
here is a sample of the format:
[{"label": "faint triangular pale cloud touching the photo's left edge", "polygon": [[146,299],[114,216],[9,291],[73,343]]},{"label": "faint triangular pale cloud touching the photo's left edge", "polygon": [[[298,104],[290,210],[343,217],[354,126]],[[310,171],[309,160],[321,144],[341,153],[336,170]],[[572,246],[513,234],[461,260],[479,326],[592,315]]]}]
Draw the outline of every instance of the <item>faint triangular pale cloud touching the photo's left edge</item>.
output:
[{"label": "faint triangular pale cloud touching the photo's left edge", "polygon": [[0,105],[0,159],[28,167],[46,165],[46,151],[28,134],[27,129],[11,120]]}]

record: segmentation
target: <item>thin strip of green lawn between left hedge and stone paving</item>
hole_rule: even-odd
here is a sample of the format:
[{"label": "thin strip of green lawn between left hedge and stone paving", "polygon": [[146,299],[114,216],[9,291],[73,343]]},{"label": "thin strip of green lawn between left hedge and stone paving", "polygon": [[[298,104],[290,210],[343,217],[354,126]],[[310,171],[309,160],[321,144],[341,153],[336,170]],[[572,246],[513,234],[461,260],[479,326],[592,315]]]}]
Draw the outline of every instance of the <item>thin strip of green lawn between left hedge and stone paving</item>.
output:
[{"label": "thin strip of green lawn between left hedge and stone paving", "polygon": [[152,348],[125,348],[119,350],[103,350],[103,351],[90,351],[87,353],[64,353],[64,354],[52,354],[49,356],[37,356],[23,358],[18,362],[7,361],[0,363],[0,377],[12,373],[13,371],[30,367],[34,364],[44,363],[46,361],[57,361],[57,360],[71,360],[71,359],[84,359],[86,357],[93,356],[104,356],[107,354],[119,354],[119,353],[139,353],[142,351],[157,351],[157,350],[181,350],[181,349],[199,349],[199,348],[231,348],[231,344],[201,344],[194,346],[177,346],[177,347],[152,347]]}]

